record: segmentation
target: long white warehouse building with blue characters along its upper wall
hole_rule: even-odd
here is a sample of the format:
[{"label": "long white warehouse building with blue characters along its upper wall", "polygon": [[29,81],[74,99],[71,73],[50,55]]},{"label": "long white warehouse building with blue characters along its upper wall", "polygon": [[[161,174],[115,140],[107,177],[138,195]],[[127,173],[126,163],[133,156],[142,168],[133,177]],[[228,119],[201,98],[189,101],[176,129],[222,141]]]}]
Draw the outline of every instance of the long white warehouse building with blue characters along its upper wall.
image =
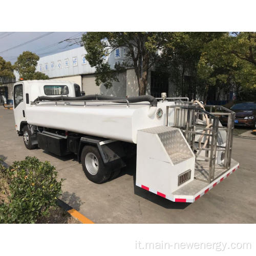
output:
[{"label": "long white warehouse building with blue characters along its upper wall", "polygon": [[[114,68],[115,63],[122,61],[125,56],[125,49],[117,48],[105,61],[108,61],[111,68]],[[118,75],[119,82],[113,81],[113,86],[106,89],[103,84],[96,86],[95,82],[95,68],[92,68],[85,58],[86,50],[84,47],[75,48],[72,50],[41,57],[37,62],[37,70],[45,73],[50,79],[68,80],[79,84],[81,91],[86,95],[89,94],[103,94],[113,96],[138,96],[138,82],[134,69],[127,69],[125,72]],[[165,82],[152,86],[154,79],[154,72],[148,74],[147,94],[155,97],[160,97],[161,92],[168,93],[168,78]],[[160,88],[159,85],[161,84]]]}]

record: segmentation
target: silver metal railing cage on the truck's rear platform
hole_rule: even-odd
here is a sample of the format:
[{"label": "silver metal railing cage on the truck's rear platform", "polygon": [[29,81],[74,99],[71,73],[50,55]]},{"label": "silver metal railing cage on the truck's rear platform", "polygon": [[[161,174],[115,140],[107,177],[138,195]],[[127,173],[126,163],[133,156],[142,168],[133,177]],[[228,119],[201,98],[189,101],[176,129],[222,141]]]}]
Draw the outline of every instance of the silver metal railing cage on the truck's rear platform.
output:
[{"label": "silver metal railing cage on the truck's rear platform", "polygon": [[[193,105],[192,102],[179,101],[177,102],[177,105],[166,106],[165,125],[169,125],[169,110],[174,110],[174,113],[172,113],[174,115],[174,123],[172,126],[179,128],[183,132],[185,139],[196,156],[196,160],[204,159],[204,161],[209,163],[206,181],[210,183],[217,178],[215,177],[215,164],[216,153],[218,151],[224,152],[225,154],[224,164],[221,165],[221,167],[219,165],[218,168],[230,168],[234,112],[223,106],[206,105],[204,107],[209,108],[210,112],[203,110],[199,105]],[[213,109],[220,109],[225,112],[212,112]],[[220,115],[228,116],[227,127],[219,126]],[[208,124],[204,121],[204,119],[207,118]],[[218,145],[219,131],[227,132],[225,146]],[[196,135],[200,135],[199,141],[195,141]],[[203,138],[205,138],[204,144],[201,142]],[[203,147],[201,144],[203,144]],[[205,152],[204,156],[201,154],[202,151]]]}]

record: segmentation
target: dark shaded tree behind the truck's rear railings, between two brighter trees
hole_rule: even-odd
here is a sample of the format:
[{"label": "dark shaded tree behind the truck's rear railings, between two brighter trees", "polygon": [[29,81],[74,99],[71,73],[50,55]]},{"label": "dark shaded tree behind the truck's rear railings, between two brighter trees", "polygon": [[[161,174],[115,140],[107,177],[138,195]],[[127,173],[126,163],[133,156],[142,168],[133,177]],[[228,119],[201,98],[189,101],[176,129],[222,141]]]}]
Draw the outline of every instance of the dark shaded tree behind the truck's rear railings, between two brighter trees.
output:
[{"label": "dark shaded tree behind the truck's rear railings, between two brighter trees", "polygon": [[204,46],[222,35],[223,32],[172,33],[156,69],[169,74],[169,80],[176,86],[173,96],[205,97],[207,81],[198,76],[198,62]]}]

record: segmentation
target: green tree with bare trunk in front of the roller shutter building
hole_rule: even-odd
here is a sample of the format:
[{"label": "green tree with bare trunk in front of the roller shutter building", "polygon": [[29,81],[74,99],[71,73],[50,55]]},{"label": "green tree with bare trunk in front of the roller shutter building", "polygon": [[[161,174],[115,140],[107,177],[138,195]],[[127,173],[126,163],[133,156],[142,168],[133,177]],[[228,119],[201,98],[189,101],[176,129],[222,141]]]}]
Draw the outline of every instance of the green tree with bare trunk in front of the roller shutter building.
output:
[{"label": "green tree with bare trunk in front of the roller shutter building", "polygon": [[[125,69],[135,70],[139,95],[145,95],[148,71],[162,58],[164,45],[172,38],[170,32],[88,32],[82,36],[86,59],[96,68],[96,84],[106,88],[118,81],[117,74]],[[125,58],[113,68],[104,61],[117,48],[125,49]]]}]

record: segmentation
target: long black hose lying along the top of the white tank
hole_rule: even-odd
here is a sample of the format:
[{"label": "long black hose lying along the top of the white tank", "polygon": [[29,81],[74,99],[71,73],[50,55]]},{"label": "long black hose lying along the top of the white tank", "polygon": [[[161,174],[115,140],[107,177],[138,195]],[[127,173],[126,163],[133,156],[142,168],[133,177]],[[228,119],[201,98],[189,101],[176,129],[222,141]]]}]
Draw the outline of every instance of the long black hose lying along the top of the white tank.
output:
[{"label": "long black hose lying along the top of the white tank", "polygon": [[113,97],[113,96],[105,96],[105,95],[85,95],[80,97],[67,97],[67,96],[56,96],[56,97],[49,97],[49,96],[39,96],[35,101],[39,100],[50,100],[50,101],[72,101],[72,100],[128,100],[129,103],[136,103],[142,101],[150,102],[151,106],[157,106],[157,99],[151,95],[141,95],[137,97]]}]

